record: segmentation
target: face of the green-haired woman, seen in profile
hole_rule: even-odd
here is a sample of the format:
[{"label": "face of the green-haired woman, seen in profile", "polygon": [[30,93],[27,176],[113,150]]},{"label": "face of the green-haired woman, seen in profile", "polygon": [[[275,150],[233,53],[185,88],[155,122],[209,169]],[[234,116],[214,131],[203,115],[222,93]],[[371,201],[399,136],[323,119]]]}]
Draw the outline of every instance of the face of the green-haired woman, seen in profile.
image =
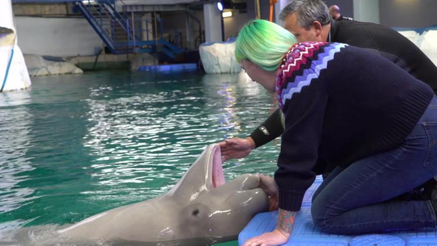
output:
[{"label": "face of the green-haired woman, seen in profile", "polygon": [[254,82],[261,84],[270,93],[275,93],[275,91],[276,91],[276,84],[275,84],[276,73],[265,71],[249,60],[242,60],[241,61],[241,68],[244,71],[246,71],[247,75]]}]

